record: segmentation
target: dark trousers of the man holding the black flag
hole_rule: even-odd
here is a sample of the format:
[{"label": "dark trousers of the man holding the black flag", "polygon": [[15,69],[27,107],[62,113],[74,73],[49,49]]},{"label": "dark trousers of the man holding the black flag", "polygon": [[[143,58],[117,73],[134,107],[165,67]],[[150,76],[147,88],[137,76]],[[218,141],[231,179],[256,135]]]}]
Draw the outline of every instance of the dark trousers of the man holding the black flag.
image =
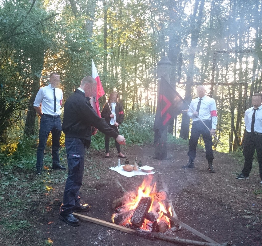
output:
[{"label": "dark trousers of the man holding the black flag", "polygon": [[[211,127],[212,127],[211,120],[204,120],[203,122],[211,130]],[[191,128],[191,135],[189,139],[189,151],[187,155],[192,160],[196,158],[196,146],[197,146],[200,134],[202,134],[204,144],[205,144],[206,159],[213,160],[214,155],[213,155],[213,149],[212,149],[212,146],[213,146],[212,137],[210,136],[210,131],[208,131],[208,129],[204,126],[204,124],[201,121],[193,121],[192,128]]]}]

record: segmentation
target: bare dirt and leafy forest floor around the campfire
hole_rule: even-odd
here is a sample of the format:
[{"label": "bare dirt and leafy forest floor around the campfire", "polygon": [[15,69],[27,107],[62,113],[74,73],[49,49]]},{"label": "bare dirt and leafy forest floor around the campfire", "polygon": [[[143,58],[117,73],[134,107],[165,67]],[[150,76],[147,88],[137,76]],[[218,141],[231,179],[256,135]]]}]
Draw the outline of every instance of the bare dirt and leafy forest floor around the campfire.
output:
[{"label": "bare dirt and leafy forest floor around the campfire", "polygon": [[[103,150],[87,151],[80,189],[82,202],[91,205],[89,212],[83,214],[107,222],[111,222],[114,213],[113,200],[122,196],[116,180],[131,192],[147,176],[127,178],[110,170],[109,167],[117,165],[118,160],[116,149],[111,147],[111,151],[109,158],[104,157]],[[187,151],[185,146],[169,144],[168,159],[159,161],[153,159],[152,145],[122,148],[122,153],[128,156],[131,164],[137,157],[141,158],[143,165],[154,167],[153,182],[157,183],[158,190],[168,191],[179,220],[218,243],[231,242],[236,246],[262,245],[262,185],[258,166],[252,168],[250,179],[239,180],[235,176],[240,173],[243,164],[227,153],[215,152],[213,166],[216,173],[209,173],[205,153],[202,149],[197,149],[195,168],[182,169],[181,166],[188,160]],[[63,159],[66,163],[65,156]],[[16,187],[6,185],[4,191],[1,191],[0,245],[179,245],[145,239],[86,221],[81,221],[79,227],[67,225],[59,219],[67,174],[66,171],[49,170],[48,167],[50,168],[47,165],[42,175],[17,171],[14,177],[17,179]],[[18,185],[23,180],[24,185]],[[42,187],[39,185],[46,186],[46,192],[41,192]],[[35,188],[32,189],[32,186]],[[17,212],[12,209],[14,200],[11,198],[14,195],[17,198],[16,205],[21,204],[22,207]],[[25,203],[29,198],[30,202]],[[8,226],[15,224],[12,221],[18,215],[20,229],[16,228],[14,233],[10,233],[12,228]],[[19,222],[17,226],[19,227]],[[203,241],[185,228],[165,234]]]}]

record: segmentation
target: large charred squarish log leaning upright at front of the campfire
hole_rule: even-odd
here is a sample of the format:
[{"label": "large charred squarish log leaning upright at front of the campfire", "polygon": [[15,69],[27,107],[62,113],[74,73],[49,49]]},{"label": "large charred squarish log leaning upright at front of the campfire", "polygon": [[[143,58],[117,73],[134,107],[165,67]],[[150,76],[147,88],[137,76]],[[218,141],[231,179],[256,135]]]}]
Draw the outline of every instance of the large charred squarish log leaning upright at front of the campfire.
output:
[{"label": "large charred squarish log leaning upright at front of the campfire", "polygon": [[141,227],[145,220],[145,215],[148,213],[148,210],[151,206],[150,197],[142,197],[139,201],[136,210],[133,213],[133,216],[130,222],[137,227]]}]

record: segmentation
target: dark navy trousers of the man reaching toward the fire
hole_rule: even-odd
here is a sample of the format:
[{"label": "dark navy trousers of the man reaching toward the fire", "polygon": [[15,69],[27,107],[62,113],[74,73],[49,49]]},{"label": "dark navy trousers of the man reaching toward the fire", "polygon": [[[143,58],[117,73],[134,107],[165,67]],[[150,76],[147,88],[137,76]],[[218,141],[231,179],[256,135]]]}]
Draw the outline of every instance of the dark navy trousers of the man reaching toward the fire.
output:
[{"label": "dark navy trousers of the man reaching toward the fire", "polygon": [[79,189],[83,180],[85,146],[79,138],[66,138],[65,142],[68,176],[60,213],[70,214],[80,206]]}]

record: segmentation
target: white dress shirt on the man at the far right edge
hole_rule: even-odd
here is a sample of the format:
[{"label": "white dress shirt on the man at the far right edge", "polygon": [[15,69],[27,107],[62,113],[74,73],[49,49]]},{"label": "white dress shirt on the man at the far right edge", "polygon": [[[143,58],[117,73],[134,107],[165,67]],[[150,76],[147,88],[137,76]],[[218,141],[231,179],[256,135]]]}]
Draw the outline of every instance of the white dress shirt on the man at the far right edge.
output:
[{"label": "white dress shirt on the man at the far right edge", "polygon": [[[251,121],[253,112],[254,107],[248,108],[245,111],[244,122],[246,131],[248,132],[251,132]],[[262,105],[258,107],[258,110],[256,110],[254,132],[262,133]]]}]

